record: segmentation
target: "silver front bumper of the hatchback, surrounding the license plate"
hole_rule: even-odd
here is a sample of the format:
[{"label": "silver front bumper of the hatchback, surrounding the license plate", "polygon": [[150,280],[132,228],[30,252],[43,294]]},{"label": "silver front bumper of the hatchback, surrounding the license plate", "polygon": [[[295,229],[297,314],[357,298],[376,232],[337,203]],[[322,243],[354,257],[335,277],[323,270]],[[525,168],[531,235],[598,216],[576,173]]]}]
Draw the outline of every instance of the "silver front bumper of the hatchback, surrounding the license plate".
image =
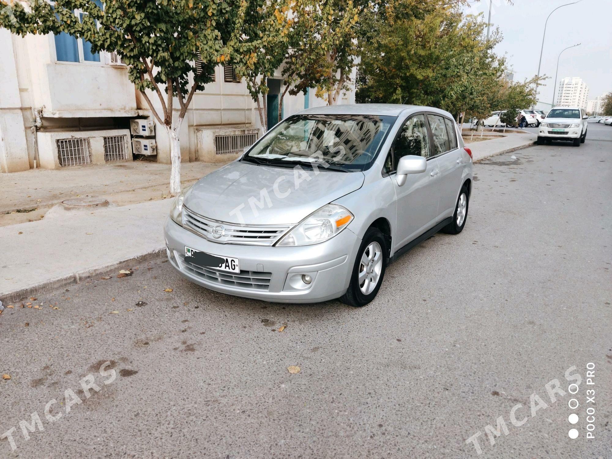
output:
[{"label": "silver front bumper of the hatchback, surrounding the license plate", "polygon": [[[329,241],[302,247],[218,244],[185,230],[170,217],[164,224],[164,237],[170,263],[191,282],[221,293],[284,303],[316,303],[342,296],[361,244],[350,228]],[[241,272],[233,275],[185,263],[185,246],[238,258]],[[302,274],[310,275],[310,285],[300,280]],[[269,285],[263,285],[267,279]],[[248,285],[249,280],[253,285]]]}]

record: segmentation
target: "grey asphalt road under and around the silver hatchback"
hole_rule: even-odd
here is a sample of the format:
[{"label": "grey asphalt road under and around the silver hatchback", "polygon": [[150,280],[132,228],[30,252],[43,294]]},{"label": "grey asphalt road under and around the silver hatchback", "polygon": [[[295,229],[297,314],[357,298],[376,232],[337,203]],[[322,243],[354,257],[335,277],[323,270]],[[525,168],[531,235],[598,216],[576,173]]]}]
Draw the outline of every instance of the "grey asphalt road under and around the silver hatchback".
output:
[{"label": "grey asphalt road under and around the silver hatchback", "polygon": [[[609,459],[612,127],[513,155],[475,165],[463,233],[403,256],[365,308],[225,296],[159,261],[5,310],[0,457],[472,458],[480,431],[480,457]],[[553,379],[577,394],[553,403]]]}]

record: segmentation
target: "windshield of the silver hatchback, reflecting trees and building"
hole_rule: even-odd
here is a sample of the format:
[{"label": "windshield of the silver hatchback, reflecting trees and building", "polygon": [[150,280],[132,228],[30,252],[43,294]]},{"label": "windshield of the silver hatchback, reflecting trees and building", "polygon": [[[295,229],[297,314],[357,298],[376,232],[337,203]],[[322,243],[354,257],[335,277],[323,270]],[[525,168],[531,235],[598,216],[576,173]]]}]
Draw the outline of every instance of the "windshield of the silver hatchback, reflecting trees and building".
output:
[{"label": "windshield of the silver hatchback, reflecting trees and building", "polygon": [[268,132],[242,161],[363,171],[376,159],[395,119],[355,114],[292,116]]}]

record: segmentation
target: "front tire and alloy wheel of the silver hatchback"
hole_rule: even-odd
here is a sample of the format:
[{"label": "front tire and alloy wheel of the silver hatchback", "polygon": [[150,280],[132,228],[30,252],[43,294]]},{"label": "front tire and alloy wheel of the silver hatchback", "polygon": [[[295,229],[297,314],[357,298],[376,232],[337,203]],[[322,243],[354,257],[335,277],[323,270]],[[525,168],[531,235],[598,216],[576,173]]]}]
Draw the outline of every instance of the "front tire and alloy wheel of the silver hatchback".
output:
[{"label": "front tire and alloy wheel of the silver hatchback", "polygon": [[[369,260],[371,253],[374,254],[375,258],[371,260],[373,264],[368,267],[362,261]],[[377,253],[379,258],[376,258]],[[341,302],[353,307],[363,307],[376,297],[383,283],[387,263],[389,263],[388,253],[384,234],[378,228],[368,228],[357,252],[353,272],[351,273],[351,282],[348,285],[348,289],[346,289],[346,293],[340,297]],[[371,285],[371,279],[373,278],[371,274],[366,274],[365,277],[362,277],[363,282],[360,284],[359,274],[360,272],[367,272],[367,269],[373,270],[371,274],[378,272],[378,278],[376,278],[376,283],[373,286]]]}]

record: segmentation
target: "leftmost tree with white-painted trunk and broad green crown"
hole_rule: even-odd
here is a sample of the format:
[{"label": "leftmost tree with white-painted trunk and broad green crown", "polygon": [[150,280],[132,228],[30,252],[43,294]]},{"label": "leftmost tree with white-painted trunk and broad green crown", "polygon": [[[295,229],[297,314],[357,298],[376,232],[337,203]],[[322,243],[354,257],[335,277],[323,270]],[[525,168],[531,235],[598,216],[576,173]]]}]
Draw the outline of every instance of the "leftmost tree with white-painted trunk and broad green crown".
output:
[{"label": "leftmost tree with white-painted trunk and broad green crown", "polygon": [[[66,32],[88,40],[94,53],[121,54],[130,81],[170,138],[174,196],[181,190],[179,130],[185,113],[193,94],[212,81],[215,67],[230,61],[239,44],[245,47],[241,31],[248,6],[247,0],[113,0],[100,8],[94,0],[56,0],[54,6],[35,0],[26,9],[10,2],[10,9],[0,12],[0,26],[21,36]],[[86,13],[82,22],[76,9]],[[160,108],[147,91],[157,95]]]}]

